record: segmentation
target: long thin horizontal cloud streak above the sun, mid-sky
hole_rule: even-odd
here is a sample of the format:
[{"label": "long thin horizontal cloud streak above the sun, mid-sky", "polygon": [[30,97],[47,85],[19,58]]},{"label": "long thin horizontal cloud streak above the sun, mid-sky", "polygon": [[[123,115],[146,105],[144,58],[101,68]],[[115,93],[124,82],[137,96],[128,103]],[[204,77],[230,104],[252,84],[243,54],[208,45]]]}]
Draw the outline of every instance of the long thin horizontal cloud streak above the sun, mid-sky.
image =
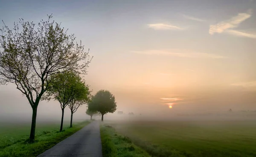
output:
[{"label": "long thin horizontal cloud streak above the sun, mid-sky", "polygon": [[131,51],[131,52],[146,54],[146,55],[165,55],[165,56],[176,56],[176,57],[186,57],[186,58],[214,58],[214,59],[227,58],[225,56],[220,56],[216,54],[191,52],[189,50],[184,50],[184,49],[145,50],[145,51]]}]

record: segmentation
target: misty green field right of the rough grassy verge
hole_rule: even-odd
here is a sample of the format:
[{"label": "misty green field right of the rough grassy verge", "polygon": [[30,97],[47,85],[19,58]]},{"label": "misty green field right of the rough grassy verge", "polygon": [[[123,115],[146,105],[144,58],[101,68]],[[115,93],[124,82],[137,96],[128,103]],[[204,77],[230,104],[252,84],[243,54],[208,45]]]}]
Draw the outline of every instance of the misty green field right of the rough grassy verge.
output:
[{"label": "misty green field right of the rough grassy verge", "polygon": [[255,157],[255,121],[107,122],[154,157]]}]

